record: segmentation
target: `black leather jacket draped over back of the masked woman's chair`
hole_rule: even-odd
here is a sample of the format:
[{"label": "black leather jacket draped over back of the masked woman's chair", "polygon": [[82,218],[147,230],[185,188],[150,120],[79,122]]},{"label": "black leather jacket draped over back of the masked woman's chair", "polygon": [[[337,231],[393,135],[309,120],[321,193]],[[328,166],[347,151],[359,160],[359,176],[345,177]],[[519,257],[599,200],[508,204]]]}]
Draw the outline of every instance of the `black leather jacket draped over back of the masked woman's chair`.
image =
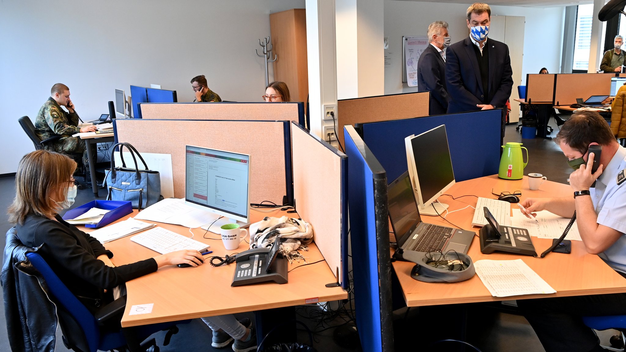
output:
[{"label": "black leather jacket draped over back of the masked woman's chair", "polygon": [[0,281],[13,352],[47,352],[56,348],[56,306],[48,298],[48,286],[39,271],[26,258],[26,253],[37,250],[24,246],[15,228],[7,231]]}]

